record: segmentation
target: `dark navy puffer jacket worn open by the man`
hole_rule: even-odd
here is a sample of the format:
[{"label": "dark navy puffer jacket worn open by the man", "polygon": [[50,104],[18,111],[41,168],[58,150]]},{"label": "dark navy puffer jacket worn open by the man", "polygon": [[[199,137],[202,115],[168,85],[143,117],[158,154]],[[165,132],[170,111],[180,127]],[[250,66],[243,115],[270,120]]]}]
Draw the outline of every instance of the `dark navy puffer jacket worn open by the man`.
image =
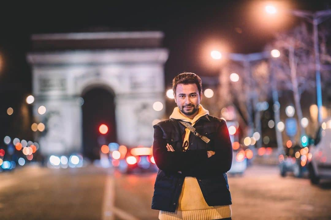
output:
[{"label": "dark navy puffer jacket worn open by the man", "polygon": [[[206,115],[199,118],[194,127],[211,141],[205,143],[191,132],[189,150],[182,151],[185,127],[178,120],[168,119],[154,125],[153,155],[159,172],[152,209],[175,212],[186,176],[197,178],[208,205],[232,204],[226,176],[232,163],[232,144],[226,122]],[[167,151],[167,143],[175,151]],[[207,150],[215,154],[208,158]]]}]

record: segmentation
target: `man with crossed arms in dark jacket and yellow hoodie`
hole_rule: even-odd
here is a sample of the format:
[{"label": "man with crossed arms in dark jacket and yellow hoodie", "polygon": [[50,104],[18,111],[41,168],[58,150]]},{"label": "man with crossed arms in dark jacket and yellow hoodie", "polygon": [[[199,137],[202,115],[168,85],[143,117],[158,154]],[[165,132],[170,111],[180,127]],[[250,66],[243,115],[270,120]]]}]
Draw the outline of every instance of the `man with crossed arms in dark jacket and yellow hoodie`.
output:
[{"label": "man with crossed arms in dark jacket and yellow hoodie", "polygon": [[170,119],[154,125],[159,172],[152,209],[160,210],[160,220],[231,219],[226,172],[232,144],[226,122],[200,105],[202,82],[196,74],[179,74],[172,90],[177,107]]}]

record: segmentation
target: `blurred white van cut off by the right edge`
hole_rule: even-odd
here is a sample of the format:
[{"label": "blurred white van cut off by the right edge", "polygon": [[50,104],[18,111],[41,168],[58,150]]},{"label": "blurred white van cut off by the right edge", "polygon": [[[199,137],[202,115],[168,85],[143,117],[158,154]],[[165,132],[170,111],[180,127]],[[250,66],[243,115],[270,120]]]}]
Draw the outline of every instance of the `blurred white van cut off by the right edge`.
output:
[{"label": "blurred white van cut off by the right edge", "polygon": [[331,117],[318,128],[309,151],[312,154],[308,164],[311,183],[318,184],[321,178],[331,178]]}]

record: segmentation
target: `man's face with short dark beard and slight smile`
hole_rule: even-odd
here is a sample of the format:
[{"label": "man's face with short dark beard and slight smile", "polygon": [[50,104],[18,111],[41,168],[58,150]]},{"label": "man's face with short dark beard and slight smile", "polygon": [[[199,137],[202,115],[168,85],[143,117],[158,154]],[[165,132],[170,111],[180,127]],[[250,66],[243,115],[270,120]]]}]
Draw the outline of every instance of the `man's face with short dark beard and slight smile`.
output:
[{"label": "man's face with short dark beard and slight smile", "polygon": [[198,114],[202,95],[199,94],[198,86],[195,83],[178,84],[174,98],[179,110],[184,115],[194,117]]}]

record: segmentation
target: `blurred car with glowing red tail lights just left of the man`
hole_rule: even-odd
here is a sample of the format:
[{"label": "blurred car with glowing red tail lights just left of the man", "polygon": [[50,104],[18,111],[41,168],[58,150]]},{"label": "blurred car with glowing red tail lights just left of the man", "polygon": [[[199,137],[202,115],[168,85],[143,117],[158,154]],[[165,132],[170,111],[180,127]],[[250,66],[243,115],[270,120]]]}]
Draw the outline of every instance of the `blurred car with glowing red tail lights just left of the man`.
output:
[{"label": "blurred car with glowing red tail lights just left of the man", "polygon": [[127,149],[119,146],[111,154],[112,164],[121,173],[157,172],[158,168],[153,157],[152,147],[134,147]]}]

